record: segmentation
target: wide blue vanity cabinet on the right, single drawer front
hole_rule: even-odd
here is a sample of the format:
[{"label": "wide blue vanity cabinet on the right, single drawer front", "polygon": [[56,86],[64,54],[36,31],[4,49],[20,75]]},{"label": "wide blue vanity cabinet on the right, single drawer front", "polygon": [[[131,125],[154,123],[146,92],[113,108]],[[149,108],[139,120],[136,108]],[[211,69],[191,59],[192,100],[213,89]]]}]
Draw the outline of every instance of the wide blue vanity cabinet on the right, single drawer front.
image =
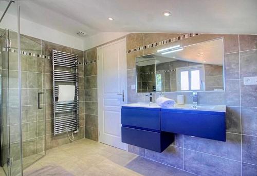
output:
[{"label": "wide blue vanity cabinet on the right, single drawer front", "polygon": [[161,109],[161,131],[226,141],[225,112]]}]

